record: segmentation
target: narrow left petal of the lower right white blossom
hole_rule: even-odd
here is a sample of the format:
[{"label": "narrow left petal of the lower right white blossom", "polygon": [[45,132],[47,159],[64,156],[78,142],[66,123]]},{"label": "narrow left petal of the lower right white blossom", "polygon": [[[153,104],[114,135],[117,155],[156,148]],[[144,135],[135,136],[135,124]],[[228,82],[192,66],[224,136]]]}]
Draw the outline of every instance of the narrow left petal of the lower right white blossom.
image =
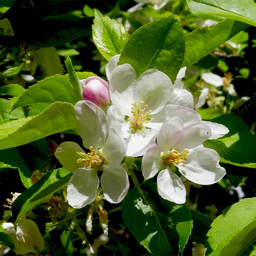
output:
[{"label": "narrow left petal of the lower right white blossom", "polygon": [[160,170],[163,161],[157,143],[151,143],[142,158],[141,170],[145,178],[152,178]]}]

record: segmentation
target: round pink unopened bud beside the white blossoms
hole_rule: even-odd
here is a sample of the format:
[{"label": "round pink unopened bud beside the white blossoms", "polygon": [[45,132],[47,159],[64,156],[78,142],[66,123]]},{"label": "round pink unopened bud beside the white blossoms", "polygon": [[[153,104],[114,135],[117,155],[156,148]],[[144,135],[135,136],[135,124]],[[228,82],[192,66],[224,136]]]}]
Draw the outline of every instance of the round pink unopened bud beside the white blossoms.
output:
[{"label": "round pink unopened bud beside the white blossoms", "polygon": [[91,76],[84,83],[83,99],[105,108],[110,102],[108,82],[98,76]]}]

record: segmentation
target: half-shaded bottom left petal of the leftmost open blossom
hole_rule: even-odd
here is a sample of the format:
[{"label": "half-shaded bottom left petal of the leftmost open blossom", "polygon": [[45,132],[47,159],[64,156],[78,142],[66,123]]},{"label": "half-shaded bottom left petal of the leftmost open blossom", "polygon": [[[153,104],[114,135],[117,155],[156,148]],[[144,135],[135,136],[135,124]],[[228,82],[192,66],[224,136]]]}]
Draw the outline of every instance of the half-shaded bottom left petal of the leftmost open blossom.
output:
[{"label": "half-shaded bottom left petal of the leftmost open blossom", "polygon": [[67,185],[67,201],[79,209],[92,203],[98,192],[99,178],[96,169],[77,169]]}]

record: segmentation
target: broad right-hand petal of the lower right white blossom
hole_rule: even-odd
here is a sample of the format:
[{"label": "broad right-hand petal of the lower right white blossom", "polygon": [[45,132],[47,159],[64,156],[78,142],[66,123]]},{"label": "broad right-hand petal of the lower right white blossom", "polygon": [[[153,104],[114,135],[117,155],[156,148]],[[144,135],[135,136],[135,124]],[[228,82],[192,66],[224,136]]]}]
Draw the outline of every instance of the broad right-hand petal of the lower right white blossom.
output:
[{"label": "broad right-hand petal of the lower right white blossom", "polygon": [[226,171],[219,165],[220,157],[212,148],[198,146],[192,149],[185,166],[178,165],[179,171],[188,180],[201,185],[210,185],[221,180]]}]

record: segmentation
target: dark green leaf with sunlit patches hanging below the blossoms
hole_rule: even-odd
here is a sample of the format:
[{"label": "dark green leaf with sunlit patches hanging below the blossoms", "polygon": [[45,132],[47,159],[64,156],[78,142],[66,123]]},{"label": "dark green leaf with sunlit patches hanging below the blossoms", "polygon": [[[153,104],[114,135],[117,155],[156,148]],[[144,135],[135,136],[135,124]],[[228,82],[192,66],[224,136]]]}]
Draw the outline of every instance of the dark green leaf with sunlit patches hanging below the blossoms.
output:
[{"label": "dark green leaf with sunlit patches hanging below the blossoms", "polygon": [[128,192],[122,212],[125,225],[153,255],[182,255],[192,229],[189,209],[161,198],[155,183]]}]

